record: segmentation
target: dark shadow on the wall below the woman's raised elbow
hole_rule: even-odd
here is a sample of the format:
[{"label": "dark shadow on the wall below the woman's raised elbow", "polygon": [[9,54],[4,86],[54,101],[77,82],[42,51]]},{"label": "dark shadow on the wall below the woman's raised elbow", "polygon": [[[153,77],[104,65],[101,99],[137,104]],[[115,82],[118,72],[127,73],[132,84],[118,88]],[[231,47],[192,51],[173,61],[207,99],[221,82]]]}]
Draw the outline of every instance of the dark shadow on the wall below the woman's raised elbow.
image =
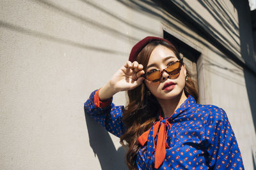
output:
[{"label": "dark shadow on the wall below the woman's raised elbow", "polygon": [[89,134],[90,146],[94,155],[98,157],[101,169],[128,169],[125,164],[125,150],[120,147],[116,150],[108,131],[97,124],[93,118],[85,114],[86,125]]}]

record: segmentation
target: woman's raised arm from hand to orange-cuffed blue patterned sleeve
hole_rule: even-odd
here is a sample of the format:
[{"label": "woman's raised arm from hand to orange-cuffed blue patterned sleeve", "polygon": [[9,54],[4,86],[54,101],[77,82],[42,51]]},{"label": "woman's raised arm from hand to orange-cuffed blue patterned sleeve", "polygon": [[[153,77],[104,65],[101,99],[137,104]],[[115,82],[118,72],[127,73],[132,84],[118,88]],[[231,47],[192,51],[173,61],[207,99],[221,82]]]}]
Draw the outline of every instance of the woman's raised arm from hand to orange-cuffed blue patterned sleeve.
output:
[{"label": "woman's raised arm from hand to orange-cuffed blue patterned sleeve", "polygon": [[144,79],[141,77],[142,74],[144,71],[141,64],[136,61],[133,63],[126,62],[104,87],[92,92],[89,99],[84,103],[84,112],[93,117],[109,132],[120,137],[125,132],[122,123],[124,106],[115,106],[112,103],[113,95],[138,87]]}]

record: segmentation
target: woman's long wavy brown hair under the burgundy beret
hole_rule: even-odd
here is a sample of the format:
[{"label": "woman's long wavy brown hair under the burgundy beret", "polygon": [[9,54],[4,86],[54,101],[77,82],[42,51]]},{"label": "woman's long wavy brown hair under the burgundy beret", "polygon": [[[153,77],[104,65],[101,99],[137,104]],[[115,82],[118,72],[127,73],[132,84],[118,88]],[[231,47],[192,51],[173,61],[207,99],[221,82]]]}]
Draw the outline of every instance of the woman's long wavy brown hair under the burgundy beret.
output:
[{"label": "woman's long wavy brown hair under the burgundy beret", "polygon": [[[152,41],[145,46],[139,53],[136,61],[143,65],[144,71],[147,67],[149,57],[158,45],[163,45],[172,50],[176,57],[180,59],[179,52],[176,48],[165,41]],[[189,76],[187,69],[187,78],[184,87],[185,95],[193,96],[195,100],[198,100],[198,93],[196,92],[195,83]],[[140,150],[138,138],[143,132],[147,131],[156,122],[159,113],[161,113],[161,106],[157,102],[156,97],[153,95],[148,96],[147,87],[144,83],[135,89],[128,90],[127,106],[124,111],[122,121],[127,128],[127,131],[120,137],[120,143],[128,148],[125,155],[126,163],[129,169],[136,169],[136,157]]]}]

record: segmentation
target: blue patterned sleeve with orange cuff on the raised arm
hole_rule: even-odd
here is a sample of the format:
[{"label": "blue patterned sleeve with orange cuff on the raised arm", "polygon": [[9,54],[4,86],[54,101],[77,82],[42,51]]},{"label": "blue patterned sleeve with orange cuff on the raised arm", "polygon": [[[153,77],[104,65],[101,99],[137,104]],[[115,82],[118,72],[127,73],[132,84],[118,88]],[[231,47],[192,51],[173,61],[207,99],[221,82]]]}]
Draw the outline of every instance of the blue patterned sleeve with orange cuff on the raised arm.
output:
[{"label": "blue patterned sleeve with orange cuff on the raised arm", "polygon": [[84,112],[117,137],[122,136],[125,127],[122,122],[124,106],[115,106],[113,97],[108,101],[100,101],[99,90],[95,90],[84,103]]}]

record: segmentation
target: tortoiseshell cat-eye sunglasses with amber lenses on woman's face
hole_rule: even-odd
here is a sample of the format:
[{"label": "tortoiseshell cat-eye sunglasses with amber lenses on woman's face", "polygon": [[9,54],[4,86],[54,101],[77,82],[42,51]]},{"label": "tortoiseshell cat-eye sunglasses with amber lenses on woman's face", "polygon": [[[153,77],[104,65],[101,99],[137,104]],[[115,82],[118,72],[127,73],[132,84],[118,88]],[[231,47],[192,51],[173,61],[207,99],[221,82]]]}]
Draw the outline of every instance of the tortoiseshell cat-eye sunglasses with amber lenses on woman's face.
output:
[{"label": "tortoiseshell cat-eye sunglasses with amber lenses on woman's face", "polygon": [[165,69],[163,69],[163,71],[160,71],[159,69],[148,71],[148,73],[143,74],[143,77],[148,81],[157,82],[161,80],[163,72],[166,71],[166,73],[169,74],[169,78],[175,79],[179,77],[180,69],[183,64],[182,60],[183,59],[177,60],[176,62],[171,62]]}]

